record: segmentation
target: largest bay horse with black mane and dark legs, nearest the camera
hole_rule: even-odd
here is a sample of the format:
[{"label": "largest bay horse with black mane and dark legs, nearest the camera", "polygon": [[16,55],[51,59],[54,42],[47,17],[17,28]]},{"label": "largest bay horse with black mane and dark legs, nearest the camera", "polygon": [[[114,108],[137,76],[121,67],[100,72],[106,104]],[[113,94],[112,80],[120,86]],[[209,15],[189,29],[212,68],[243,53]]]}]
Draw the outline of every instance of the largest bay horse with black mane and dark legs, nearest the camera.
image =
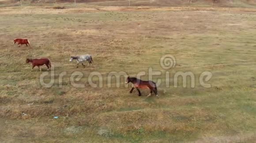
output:
[{"label": "largest bay horse with black mane and dark legs, nearest the camera", "polygon": [[154,92],[155,96],[159,98],[158,94],[157,94],[157,86],[155,84],[155,82],[153,81],[143,81],[137,78],[130,78],[130,76],[128,76],[127,80],[126,80],[126,84],[128,84],[129,82],[132,82],[133,87],[130,90],[130,93],[132,93],[133,89],[137,89],[139,92],[139,96],[141,96],[140,90],[139,89],[150,89],[150,93],[147,95],[147,97],[151,97],[151,93]]}]

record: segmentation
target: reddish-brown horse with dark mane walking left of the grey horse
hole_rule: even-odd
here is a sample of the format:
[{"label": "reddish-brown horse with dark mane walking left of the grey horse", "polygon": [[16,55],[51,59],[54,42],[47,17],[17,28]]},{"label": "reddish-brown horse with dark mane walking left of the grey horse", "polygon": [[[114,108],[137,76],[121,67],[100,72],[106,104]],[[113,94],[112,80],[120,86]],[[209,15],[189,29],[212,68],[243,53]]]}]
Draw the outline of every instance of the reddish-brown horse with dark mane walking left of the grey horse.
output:
[{"label": "reddish-brown horse with dark mane walking left of the grey horse", "polygon": [[41,58],[41,59],[29,59],[29,58],[26,58],[26,63],[29,63],[29,62],[32,63],[32,70],[31,70],[31,72],[33,71],[33,68],[35,66],[38,66],[40,71],[41,71],[41,68],[40,68],[41,65],[45,64],[47,66],[48,70],[49,70],[49,68],[52,67],[51,66],[51,62],[50,62],[50,60],[48,58]]}]

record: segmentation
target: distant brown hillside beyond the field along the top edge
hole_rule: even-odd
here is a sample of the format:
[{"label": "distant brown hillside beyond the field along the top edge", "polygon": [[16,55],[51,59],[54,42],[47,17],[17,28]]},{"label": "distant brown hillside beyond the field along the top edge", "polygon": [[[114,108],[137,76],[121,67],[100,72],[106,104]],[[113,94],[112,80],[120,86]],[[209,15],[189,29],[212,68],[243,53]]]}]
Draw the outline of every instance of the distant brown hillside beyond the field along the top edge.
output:
[{"label": "distant brown hillside beyond the field along the top edge", "polygon": [[[218,7],[255,7],[256,0],[214,0]],[[25,4],[73,3],[74,0],[23,0]],[[128,0],[76,0],[77,3],[88,3],[102,6],[128,6]],[[0,4],[19,4],[19,0],[0,0]],[[131,6],[212,6],[213,0],[131,0]]]}]

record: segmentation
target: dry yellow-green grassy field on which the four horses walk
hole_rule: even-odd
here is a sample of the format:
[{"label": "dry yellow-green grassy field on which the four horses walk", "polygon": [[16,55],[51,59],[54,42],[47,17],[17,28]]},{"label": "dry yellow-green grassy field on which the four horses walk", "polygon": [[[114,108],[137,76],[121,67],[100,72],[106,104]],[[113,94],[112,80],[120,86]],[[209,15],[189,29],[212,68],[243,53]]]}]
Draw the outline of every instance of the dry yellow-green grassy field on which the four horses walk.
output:
[{"label": "dry yellow-green grassy field on which the four horses walk", "polygon": [[[255,9],[51,7],[0,9],[0,142],[255,141]],[[15,38],[28,38],[32,48],[14,45]],[[93,55],[94,65],[75,68],[69,57],[80,54]],[[177,64],[159,99],[146,97],[148,90],[130,94],[124,80],[106,87],[109,72],[166,72],[159,64],[165,54]],[[56,79],[66,71],[63,86],[41,86],[42,72],[30,72],[27,57],[48,57]],[[75,71],[85,88],[71,85]],[[179,71],[195,74],[195,88],[173,87]],[[199,84],[205,71],[213,74],[211,88]],[[103,74],[102,88],[87,84],[90,72]]]}]

